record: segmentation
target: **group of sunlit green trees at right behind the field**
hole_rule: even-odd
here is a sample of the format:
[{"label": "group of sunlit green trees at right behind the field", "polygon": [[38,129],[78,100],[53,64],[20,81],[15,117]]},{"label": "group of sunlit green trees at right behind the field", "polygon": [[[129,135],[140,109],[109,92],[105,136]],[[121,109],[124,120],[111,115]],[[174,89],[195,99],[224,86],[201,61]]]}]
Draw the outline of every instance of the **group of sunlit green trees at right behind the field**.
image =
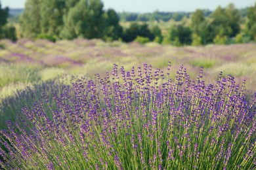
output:
[{"label": "group of sunlit green trees at right behind the field", "polygon": [[[247,21],[242,18],[240,11],[231,3],[226,8],[217,7],[215,11],[205,18],[202,10],[196,10],[190,16],[191,23],[176,25],[171,29],[171,42],[182,44],[227,44],[228,42],[243,42],[243,37],[255,40],[256,38],[256,3],[247,11]],[[241,29],[241,23],[245,29]]]}]

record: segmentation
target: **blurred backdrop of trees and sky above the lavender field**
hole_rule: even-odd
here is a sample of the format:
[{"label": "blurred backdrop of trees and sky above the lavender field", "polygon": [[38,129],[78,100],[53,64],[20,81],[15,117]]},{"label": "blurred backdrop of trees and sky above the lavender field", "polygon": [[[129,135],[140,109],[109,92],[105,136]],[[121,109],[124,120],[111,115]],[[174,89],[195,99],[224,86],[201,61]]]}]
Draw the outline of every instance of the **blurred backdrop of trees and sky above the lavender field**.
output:
[{"label": "blurred backdrop of trees and sky above the lavender field", "polygon": [[256,38],[256,2],[1,0],[0,38],[234,44]]}]

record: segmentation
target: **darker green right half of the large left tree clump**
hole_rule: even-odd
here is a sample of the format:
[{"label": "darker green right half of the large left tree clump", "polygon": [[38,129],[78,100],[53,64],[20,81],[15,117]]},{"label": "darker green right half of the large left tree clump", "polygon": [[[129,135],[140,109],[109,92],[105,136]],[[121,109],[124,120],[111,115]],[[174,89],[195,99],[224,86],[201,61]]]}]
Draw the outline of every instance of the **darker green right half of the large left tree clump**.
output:
[{"label": "darker green right half of the large left tree clump", "polygon": [[117,40],[121,37],[122,27],[114,10],[103,10],[99,0],[84,1],[68,10],[64,16],[64,28],[61,32],[62,39],[105,39]]}]

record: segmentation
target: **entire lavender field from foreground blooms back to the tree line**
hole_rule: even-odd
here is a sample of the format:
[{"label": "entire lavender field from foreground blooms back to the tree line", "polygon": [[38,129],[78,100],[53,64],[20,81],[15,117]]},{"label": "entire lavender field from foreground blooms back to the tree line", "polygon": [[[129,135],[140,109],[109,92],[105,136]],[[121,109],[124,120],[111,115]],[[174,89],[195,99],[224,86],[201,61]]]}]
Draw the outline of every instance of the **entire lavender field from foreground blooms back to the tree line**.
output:
[{"label": "entire lavender field from foreground blooms back to the tree line", "polygon": [[255,75],[255,43],[1,40],[0,167],[255,169]]}]

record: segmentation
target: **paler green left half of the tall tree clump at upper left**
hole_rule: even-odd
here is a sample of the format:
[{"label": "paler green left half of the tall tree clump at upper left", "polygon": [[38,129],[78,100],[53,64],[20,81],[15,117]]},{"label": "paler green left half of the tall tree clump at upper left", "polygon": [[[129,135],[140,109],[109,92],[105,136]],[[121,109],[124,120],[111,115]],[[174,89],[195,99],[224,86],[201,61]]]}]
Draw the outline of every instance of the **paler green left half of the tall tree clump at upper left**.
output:
[{"label": "paler green left half of the tall tree clump at upper left", "polygon": [[20,16],[22,37],[60,37],[63,28],[63,16],[67,5],[77,0],[27,0],[24,12]]}]

